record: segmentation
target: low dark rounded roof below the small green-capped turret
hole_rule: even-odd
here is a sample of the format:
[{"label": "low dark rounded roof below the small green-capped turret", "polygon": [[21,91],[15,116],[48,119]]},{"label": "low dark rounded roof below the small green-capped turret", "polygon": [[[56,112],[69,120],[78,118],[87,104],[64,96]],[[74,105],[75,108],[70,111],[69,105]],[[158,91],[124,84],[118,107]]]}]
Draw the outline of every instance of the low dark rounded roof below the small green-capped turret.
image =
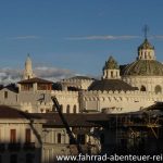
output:
[{"label": "low dark rounded roof below the small green-capped turret", "polygon": [[101,90],[101,91],[109,91],[109,90],[138,90],[137,87],[131,87],[127,83],[121,79],[102,79],[93,82],[88,90]]}]

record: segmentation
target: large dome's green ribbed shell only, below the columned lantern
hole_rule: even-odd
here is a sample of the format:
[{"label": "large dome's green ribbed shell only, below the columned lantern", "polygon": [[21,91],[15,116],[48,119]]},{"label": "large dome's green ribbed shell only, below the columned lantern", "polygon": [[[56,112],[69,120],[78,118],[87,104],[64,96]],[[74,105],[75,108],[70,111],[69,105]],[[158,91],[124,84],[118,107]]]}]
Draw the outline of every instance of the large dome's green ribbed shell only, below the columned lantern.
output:
[{"label": "large dome's green ribbed shell only, below the columned lantern", "polygon": [[127,76],[163,76],[163,64],[155,60],[138,60],[128,64],[122,75]]}]

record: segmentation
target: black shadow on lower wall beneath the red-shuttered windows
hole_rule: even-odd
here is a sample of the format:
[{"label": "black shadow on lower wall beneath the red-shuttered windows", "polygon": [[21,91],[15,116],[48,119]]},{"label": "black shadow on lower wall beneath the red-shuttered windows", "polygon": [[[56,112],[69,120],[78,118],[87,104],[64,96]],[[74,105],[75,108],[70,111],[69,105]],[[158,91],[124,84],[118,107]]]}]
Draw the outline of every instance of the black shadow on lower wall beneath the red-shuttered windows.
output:
[{"label": "black shadow on lower wall beneath the red-shuttered windows", "polygon": [[0,142],[0,163],[40,162],[40,148],[35,142]]}]

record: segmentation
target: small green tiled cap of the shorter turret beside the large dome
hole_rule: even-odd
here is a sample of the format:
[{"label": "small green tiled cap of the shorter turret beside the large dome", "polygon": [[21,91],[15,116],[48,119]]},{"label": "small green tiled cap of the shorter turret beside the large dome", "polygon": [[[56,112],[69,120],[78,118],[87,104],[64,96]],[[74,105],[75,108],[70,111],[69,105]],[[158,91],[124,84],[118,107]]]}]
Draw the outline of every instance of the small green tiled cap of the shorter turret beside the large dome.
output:
[{"label": "small green tiled cap of the shorter turret beside the large dome", "polygon": [[113,57],[109,58],[109,60],[105,62],[103,70],[118,70],[117,62],[113,59]]}]

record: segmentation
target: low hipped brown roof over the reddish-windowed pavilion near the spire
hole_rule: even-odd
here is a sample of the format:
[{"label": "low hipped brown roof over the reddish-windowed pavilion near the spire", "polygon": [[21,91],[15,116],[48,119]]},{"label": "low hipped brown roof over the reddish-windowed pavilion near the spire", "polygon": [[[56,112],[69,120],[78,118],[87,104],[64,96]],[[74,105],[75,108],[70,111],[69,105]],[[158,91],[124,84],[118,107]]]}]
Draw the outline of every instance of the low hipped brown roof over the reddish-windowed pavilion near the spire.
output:
[{"label": "low hipped brown roof over the reddish-windowed pavilion near the spire", "polygon": [[18,82],[18,84],[34,84],[34,83],[37,83],[37,84],[53,84],[53,82],[46,80],[46,79],[38,78],[38,77],[34,77],[34,78],[24,79],[24,80]]}]

